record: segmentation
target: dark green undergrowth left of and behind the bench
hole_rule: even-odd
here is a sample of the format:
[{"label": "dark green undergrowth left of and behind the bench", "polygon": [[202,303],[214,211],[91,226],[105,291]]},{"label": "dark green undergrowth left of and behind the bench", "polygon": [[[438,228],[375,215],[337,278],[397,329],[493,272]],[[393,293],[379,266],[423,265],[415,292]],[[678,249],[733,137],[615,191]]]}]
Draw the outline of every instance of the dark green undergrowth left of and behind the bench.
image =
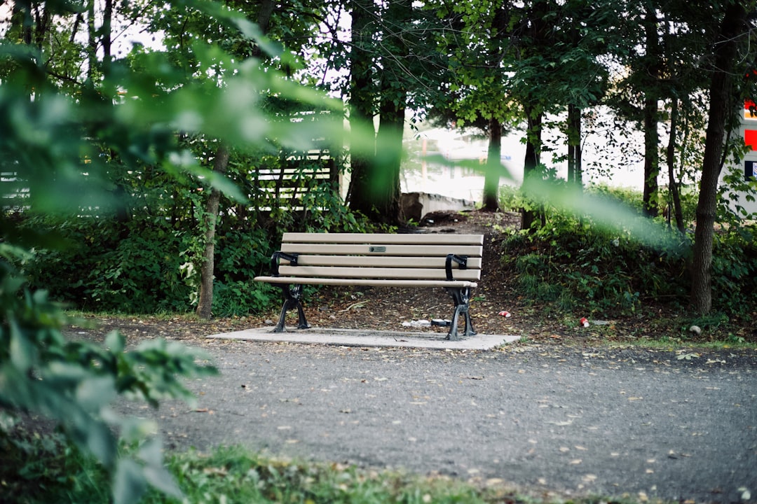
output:
[{"label": "dark green undergrowth left of and behind the bench", "polygon": [[[313,189],[308,197],[326,204],[329,194],[328,189]],[[369,228],[341,201],[341,211],[324,208],[306,214],[276,209],[264,218],[250,215],[244,220],[222,216],[213,314],[243,315],[265,311],[279,302],[275,288],[253,283],[251,278],[268,273],[283,231],[362,232]],[[276,218],[279,214],[288,217]],[[17,214],[14,221],[22,233],[48,230],[47,246],[37,246],[17,267],[32,289],[45,289],[70,308],[122,314],[186,313],[195,308],[204,244],[196,230],[198,221],[190,215],[174,220],[135,216],[119,222],[100,216]]]}]

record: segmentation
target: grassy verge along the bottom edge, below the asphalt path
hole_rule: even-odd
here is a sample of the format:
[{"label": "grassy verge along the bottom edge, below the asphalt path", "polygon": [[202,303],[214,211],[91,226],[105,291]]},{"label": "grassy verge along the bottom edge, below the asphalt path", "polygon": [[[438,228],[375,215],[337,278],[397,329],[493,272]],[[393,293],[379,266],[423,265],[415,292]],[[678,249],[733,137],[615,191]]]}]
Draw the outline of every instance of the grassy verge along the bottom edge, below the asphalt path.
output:
[{"label": "grassy verge along the bottom edge, below the asphalt path", "polygon": [[[107,474],[91,457],[71,448],[63,438],[0,431],[0,502],[111,502]],[[127,450],[129,451],[129,450]],[[245,504],[268,502],[445,504],[540,504],[565,502],[554,493],[526,495],[501,481],[461,481],[393,471],[372,471],[338,463],[270,459],[239,447],[213,453],[168,453],[167,468],[182,490],[181,499],[149,490],[145,504]],[[570,502],[618,502],[585,498]],[[633,502],[626,500],[624,502]]]}]

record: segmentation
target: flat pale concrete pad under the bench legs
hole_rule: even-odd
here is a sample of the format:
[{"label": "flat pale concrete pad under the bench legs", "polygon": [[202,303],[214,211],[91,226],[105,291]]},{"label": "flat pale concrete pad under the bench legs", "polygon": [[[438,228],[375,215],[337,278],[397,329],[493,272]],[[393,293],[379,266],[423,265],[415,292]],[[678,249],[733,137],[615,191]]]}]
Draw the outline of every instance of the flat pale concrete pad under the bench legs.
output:
[{"label": "flat pale concrete pad under the bench legs", "polygon": [[245,329],[207,336],[211,339],[239,339],[257,342],[290,342],[357,347],[405,347],[450,350],[491,350],[506,343],[517,342],[520,336],[477,334],[450,341],[441,332],[371,331],[365,329],[288,329],[273,332],[270,327]]}]

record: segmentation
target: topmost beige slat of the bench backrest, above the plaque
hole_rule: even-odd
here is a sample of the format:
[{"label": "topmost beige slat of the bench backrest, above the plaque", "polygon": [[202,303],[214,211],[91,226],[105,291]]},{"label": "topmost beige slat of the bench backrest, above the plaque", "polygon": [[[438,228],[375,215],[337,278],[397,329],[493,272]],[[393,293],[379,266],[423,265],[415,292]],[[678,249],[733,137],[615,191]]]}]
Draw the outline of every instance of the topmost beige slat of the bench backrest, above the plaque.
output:
[{"label": "topmost beige slat of the bench backrest, above the plaque", "polygon": [[482,234],[284,233],[282,243],[366,243],[369,245],[483,245]]}]

